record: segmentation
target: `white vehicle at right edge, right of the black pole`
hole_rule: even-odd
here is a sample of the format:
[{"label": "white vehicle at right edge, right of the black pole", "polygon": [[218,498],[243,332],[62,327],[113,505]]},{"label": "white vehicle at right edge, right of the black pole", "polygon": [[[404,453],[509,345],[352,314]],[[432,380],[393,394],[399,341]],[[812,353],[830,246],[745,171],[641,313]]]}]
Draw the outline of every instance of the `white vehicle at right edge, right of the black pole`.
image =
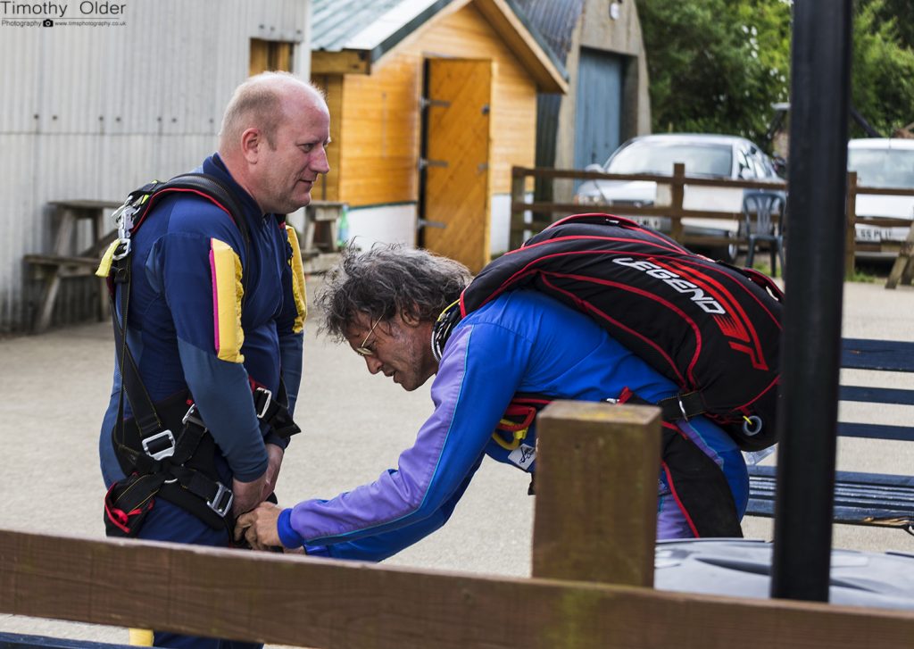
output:
[{"label": "white vehicle at right edge, right of the black pole", "polygon": [[[914,140],[872,138],[847,143],[847,169],[856,171],[857,185],[914,189]],[[914,219],[914,196],[857,194],[856,256],[894,259],[908,238],[910,224],[866,225],[867,217]]]}]

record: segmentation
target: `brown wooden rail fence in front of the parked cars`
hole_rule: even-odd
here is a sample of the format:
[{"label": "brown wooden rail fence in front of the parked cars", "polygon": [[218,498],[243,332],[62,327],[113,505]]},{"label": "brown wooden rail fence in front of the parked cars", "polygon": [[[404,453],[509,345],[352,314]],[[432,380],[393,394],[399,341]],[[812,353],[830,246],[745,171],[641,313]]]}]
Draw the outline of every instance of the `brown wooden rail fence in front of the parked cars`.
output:
[{"label": "brown wooden rail fence in front of the parked cars", "polygon": [[[527,178],[537,178],[546,181],[552,181],[556,178],[567,178],[574,180],[645,180],[657,183],[658,186],[670,187],[669,205],[659,206],[641,206],[634,207],[625,205],[616,207],[620,216],[633,217],[668,217],[670,218],[670,236],[685,245],[721,245],[721,244],[744,244],[745,236],[735,237],[714,237],[714,236],[685,236],[683,233],[683,218],[718,218],[721,220],[741,220],[741,212],[710,211],[704,209],[686,209],[683,205],[685,197],[685,186],[705,186],[721,188],[740,188],[740,189],[771,189],[787,190],[787,184],[784,182],[762,182],[755,180],[729,180],[726,178],[704,178],[685,175],[685,165],[677,163],[673,165],[673,176],[661,176],[654,174],[601,174],[599,172],[579,171],[577,169],[548,169],[548,168],[527,168],[515,166],[511,170],[511,249],[520,246],[526,239],[526,231],[532,230],[538,232],[545,228],[549,223],[568,216],[591,210],[606,209],[613,211],[612,206],[600,205],[579,205],[577,203],[554,203],[543,201],[526,200]],[[886,188],[886,187],[869,187],[858,186],[856,182],[856,172],[847,174],[847,236],[845,245],[845,272],[847,276],[854,273],[854,261],[856,256],[856,197],[861,194],[879,195],[879,196],[911,196],[914,197],[914,189],[905,188]],[[526,222],[527,212],[532,213],[533,220]],[[862,215],[866,216],[866,215]],[[867,225],[880,228],[887,227],[909,227],[911,221],[903,218],[888,217],[866,217]],[[910,248],[910,244],[907,246]],[[902,244],[900,255],[906,252],[905,244]],[[910,250],[907,250],[910,254]]]}]

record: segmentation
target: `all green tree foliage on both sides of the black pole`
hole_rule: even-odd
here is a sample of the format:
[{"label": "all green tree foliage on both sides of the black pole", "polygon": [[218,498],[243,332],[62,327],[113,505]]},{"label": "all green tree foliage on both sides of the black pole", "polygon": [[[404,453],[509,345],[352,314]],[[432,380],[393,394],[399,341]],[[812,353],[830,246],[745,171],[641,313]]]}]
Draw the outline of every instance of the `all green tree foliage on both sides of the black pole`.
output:
[{"label": "all green tree foliage on both sides of the black pole", "polygon": [[[790,0],[637,4],[654,132],[733,133],[768,144],[771,105],[789,101]],[[912,0],[854,5],[852,101],[886,135],[914,122],[912,5]]]}]

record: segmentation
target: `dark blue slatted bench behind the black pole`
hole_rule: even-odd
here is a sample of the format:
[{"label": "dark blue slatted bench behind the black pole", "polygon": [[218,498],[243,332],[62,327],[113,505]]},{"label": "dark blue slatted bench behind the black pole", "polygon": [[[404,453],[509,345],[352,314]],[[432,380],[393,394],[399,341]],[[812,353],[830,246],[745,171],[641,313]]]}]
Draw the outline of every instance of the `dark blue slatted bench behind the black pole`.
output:
[{"label": "dark blue slatted bench behind the black pole", "polygon": [[[841,367],[885,372],[914,372],[914,343],[845,338]],[[845,385],[842,401],[914,406],[914,389]],[[872,440],[914,442],[914,426],[838,422],[838,435]],[[774,516],[775,467],[749,466],[747,516]],[[899,527],[914,534],[914,475],[835,473],[834,522]]]}]

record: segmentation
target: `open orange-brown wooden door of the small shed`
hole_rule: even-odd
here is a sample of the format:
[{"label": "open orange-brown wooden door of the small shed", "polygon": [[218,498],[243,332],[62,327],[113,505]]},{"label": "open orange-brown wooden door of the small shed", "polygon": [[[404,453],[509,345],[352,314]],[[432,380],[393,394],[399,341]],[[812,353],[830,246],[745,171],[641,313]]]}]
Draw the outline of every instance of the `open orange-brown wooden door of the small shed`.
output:
[{"label": "open orange-brown wooden door of the small shed", "polygon": [[478,272],[489,250],[492,61],[429,59],[423,244]]}]

